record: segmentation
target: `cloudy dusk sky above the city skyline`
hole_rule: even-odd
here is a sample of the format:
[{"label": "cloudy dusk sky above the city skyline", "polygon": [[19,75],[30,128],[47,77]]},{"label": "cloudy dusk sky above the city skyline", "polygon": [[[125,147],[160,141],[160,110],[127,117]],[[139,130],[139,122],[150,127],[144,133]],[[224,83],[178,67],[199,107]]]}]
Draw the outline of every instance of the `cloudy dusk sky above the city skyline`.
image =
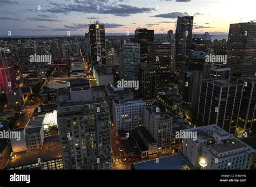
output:
[{"label": "cloudy dusk sky above the city skyline", "polygon": [[255,7],[255,0],[0,0],[0,35],[84,34],[95,20],[106,33],[166,33],[175,32],[178,16],[194,16],[194,33],[222,34],[231,23],[256,20]]}]

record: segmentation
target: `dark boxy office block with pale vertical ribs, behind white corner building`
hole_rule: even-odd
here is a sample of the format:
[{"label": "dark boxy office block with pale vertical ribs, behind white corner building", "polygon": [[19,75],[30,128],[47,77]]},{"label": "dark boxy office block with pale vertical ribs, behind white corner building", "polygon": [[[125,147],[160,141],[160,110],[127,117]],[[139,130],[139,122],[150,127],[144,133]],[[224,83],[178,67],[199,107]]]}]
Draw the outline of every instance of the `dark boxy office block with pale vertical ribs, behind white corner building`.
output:
[{"label": "dark boxy office block with pale vertical ribs, behind white corner building", "polygon": [[233,134],[241,105],[242,83],[224,78],[201,81],[198,107],[199,125],[216,124]]}]

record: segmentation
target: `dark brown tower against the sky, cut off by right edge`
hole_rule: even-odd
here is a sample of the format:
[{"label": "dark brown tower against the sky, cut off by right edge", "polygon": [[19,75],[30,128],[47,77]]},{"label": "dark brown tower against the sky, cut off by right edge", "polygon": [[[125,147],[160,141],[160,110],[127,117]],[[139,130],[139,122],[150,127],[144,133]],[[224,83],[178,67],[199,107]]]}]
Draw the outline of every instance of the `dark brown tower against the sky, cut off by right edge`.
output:
[{"label": "dark brown tower against the sky, cut off by right edge", "polygon": [[232,75],[256,75],[256,22],[230,24],[227,65]]}]

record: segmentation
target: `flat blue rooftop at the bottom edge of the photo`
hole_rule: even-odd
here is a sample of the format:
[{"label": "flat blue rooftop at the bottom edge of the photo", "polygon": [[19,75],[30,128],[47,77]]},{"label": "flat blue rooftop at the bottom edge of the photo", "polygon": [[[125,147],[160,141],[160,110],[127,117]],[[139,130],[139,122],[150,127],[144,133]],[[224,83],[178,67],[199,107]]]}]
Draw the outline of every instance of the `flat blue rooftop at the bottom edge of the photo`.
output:
[{"label": "flat blue rooftop at the bottom edge of the photo", "polygon": [[156,159],[149,161],[143,161],[132,164],[133,169],[142,170],[161,170],[161,169],[174,169],[174,170],[188,170],[196,169],[193,167],[190,161],[182,154],[176,154],[171,156],[160,157],[159,162]]}]

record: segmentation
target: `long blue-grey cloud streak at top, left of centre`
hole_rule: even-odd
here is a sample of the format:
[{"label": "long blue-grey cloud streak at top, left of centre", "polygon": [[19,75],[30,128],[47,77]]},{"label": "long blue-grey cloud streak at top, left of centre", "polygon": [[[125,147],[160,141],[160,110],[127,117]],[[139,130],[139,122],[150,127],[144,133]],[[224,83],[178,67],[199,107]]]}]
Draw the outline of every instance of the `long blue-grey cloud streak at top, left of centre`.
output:
[{"label": "long blue-grey cloud streak at top, left of centre", "polygon": [[54,5],[50,9],[45,11],[51,13],[64,13],[68,15],[72,12],[80,13],[99,13],[99,14],[111,14],[114,16],[130,16],[136,13],[149,13],[155,8],[138,8],[137,6],[131,6],[127,4],[107,4],[106,0],[75,0],[75,3],[64,4],[64,3],[51,3]]}]

